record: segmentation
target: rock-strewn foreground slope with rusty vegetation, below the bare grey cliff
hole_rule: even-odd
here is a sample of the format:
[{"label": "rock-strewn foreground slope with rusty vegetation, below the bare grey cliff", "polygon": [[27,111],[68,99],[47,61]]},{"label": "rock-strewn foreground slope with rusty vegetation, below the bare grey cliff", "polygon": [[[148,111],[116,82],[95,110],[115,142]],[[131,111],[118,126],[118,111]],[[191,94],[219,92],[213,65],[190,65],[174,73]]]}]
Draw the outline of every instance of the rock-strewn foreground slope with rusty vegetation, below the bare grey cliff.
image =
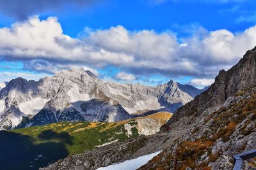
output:
[{"label": "rock-strewn foreground slope with rusty vegetation, below the bare grey cliff", "polygon": [[[252,85],[230,97],[220,110],[191,124],[182,138],[140,169],[233,169],[233,155],[256,148],[255,111]],[[244,166],[253,169],[255,163],[244,161]]]}]

